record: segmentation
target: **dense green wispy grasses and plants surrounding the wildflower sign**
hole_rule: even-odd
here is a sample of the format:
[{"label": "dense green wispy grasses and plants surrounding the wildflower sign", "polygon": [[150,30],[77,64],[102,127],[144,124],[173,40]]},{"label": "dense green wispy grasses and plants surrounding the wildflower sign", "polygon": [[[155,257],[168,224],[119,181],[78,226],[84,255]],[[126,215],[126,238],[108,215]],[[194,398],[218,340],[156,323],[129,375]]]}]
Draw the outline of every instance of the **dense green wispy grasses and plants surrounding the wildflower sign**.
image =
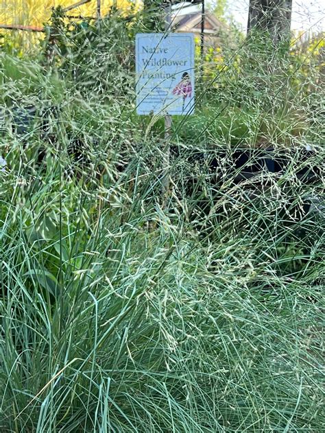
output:
[{"label": "dense green wispy grasses and plants surrounding the wildflower sign", "polygon": [[0,430],[322,432],[323,40],[198,59],[164,195],[134,13],[3,41]]}]

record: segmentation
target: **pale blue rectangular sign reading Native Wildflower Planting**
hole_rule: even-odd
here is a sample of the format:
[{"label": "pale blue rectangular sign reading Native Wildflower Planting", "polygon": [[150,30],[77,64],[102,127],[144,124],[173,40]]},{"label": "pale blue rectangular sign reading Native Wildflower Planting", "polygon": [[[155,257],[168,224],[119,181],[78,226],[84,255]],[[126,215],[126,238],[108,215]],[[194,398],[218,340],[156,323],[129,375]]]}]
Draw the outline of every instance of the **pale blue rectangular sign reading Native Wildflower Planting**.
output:
[{"label": "pale blue rectangular sign reading Native Wildflower Planting", "polygon": [[191,114],[194,111],[194,35],[136,35],[136,112]]}]

